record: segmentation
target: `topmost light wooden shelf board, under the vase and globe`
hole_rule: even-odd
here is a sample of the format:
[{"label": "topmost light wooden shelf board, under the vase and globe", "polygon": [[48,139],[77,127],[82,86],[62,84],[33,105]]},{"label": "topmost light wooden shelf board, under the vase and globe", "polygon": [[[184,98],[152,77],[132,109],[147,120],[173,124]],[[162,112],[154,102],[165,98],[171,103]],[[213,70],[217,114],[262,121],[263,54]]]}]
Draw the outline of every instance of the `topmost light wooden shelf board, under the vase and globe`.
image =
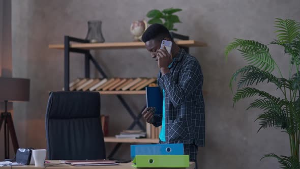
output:
[{"label": "topmost light wooden shelf board, under the vase and globe", "polygon": [[[175,41],[177,45],[185,47],[205,47],[205,42],[195,40]],[[78,49],[123,49],[123,48],[144,48],[144,42],[107,42],[107,43],[73,43],[71,48]],[[49,44],[50,49],[64,49],[64,44]]]}]

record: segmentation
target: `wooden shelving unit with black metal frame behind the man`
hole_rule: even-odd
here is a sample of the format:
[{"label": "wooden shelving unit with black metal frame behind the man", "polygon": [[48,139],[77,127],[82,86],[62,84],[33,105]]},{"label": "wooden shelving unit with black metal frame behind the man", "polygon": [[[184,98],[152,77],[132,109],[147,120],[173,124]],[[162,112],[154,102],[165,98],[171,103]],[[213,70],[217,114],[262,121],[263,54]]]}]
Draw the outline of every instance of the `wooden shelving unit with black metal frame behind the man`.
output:
[{"label": "wooden shelving unit with black metal frame behind the man", "polygon": [[[182,39],[175,41],[176,44],[184,48],[187,52],[189,51],[189,47],[205,47],[206,43],[189,40],[189,37],[182,36],[178,34],[171,33],[173,38]],[[85,57],[85,70],[84,77],[89,78],[90,75],[90,62],[94,64],[96,69],[100,72],[103,78],[107,78],[105,72],[101,69],[95,58],[89,52],[89,50],[94,49],[134,49],[134,48],[145,48],[143,42],[114,42],[114,43],[89,43],[87,40],[78,39],[70,36],[65,36],[64,44],[49,44],[50,49],[61,49],[64,50],[65,58],[64,58],[64,89],[65,91],[69,91],[69,83],[70,83],[70,53],[82,53]],[[144,90],[140,91],[98,91],[103,95],[116,95],[116,97],[121,101],[123,106],[126,108],[128,113],[133,119],[132,124],[128,127],[128,130],[133,129],[136,125],[142,130],[145,131],[145,127],[140,123],[141,112],[136,115],[130,106],[127,104],[122,95],[143,95],[146,92]],[[145,108],[144,106],[142,110]],[[141,111],[142,111],[141,110]],[[127,138],[115,138],[115,137],[104,137],[105,142],[107,143],[117,143],[111,153],[108,155],[108,158],[111,158],[113,154],[118,150],[118,148],[122,145],[122,143],[149,143],[156,144],[158,143],[158,139],[151,138],[139,138],[139,139],[127,139]]]}]

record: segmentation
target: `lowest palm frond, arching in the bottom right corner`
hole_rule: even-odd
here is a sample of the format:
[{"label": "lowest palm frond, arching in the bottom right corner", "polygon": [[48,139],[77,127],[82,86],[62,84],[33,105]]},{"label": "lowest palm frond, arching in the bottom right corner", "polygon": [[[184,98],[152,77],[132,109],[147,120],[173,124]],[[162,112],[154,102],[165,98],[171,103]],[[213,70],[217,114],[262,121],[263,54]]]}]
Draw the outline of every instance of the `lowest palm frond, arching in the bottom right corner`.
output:
[{"label": "lowest palm frond, arching in the bottom right corner", "polygon": [[288,157],[288,156],[278,156],[276,154],[267,154],[264,155],[260,160],[266,157],[274,157],[277,158],[278,162],[280,163],[280,167],[284,169],[298,169],[300,168],[299,160],[295,157]]}]

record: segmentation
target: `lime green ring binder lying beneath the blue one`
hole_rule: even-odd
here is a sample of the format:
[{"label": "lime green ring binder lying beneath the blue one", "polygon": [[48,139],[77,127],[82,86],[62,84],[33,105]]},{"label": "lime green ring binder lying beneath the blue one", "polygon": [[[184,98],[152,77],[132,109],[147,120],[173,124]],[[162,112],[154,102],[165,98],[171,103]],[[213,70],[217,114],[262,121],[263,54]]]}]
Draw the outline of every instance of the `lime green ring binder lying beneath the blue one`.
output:
[{"label": "lime green ring binder lying beneath the blue one", "polygon": [[136,168],[186,168],[189,155],[136,155],[132,161]]}]

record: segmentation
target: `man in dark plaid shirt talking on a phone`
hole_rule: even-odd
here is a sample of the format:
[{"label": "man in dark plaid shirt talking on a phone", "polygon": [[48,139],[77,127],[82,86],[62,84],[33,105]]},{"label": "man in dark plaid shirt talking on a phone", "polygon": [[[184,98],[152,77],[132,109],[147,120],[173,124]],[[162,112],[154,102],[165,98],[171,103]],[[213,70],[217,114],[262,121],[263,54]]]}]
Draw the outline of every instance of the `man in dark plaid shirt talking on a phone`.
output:
[{"label": "man in dark plaid shirt talking on a phone", "polygon": [[[172,42],[170,54],[165,47],[160,49],[162,40]],[[163,115],[155,115],[154,107],[145,108],[142,115],[147,123],[162,125],[160,144],[183,143],[185,154],[196,162],[198,147],[203,147],[205,140],[203,75],[199,62],[179,48],[161,24],[149,26],[142,41],[158,63],[157,81],[164,96]]]}]

